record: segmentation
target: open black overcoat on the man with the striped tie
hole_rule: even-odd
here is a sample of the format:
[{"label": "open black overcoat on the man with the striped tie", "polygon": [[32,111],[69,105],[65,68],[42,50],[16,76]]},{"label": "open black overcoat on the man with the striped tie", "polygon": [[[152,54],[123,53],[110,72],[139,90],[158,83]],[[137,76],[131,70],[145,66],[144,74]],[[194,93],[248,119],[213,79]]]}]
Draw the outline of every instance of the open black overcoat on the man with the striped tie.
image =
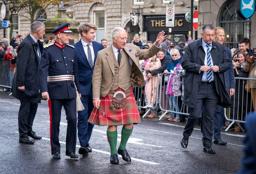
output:
[{"label": "open black overcoat on the man with the striped tie", "polygon": [[[214,73],[216,91],[218,93],[218,105],[228,107],[231,105],[231,100],[228,93],[225,92],[224,72],[230,67],[230,61],[227,57],[224,46],[220,43],[212,42],[210,51],[214,65],[220,68],[219,72]],[[204,65],[205,52],[202,46],[202,38],[188,44],[184,53],[181,66],[186,70],[184,76],[184,105],[188,107],[196,107],[196,97],[201,83],[203,73],[200,72],[201,66]]]}]

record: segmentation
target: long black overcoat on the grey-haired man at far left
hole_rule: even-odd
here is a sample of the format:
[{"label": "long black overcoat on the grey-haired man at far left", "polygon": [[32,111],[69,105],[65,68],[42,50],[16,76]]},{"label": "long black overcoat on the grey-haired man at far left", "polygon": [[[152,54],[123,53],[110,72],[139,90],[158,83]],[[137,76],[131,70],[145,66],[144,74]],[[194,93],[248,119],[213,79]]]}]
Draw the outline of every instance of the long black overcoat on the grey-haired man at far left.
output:
[{"label": "long black overcoat on the grey-haired man at far left", "polygon": [[[43,44],[38,40],[42,54]],[[12,95],[21,101],[41,102],[38,83],[38,57],[36,42],[30,35],[26,36],[18,47],[17,68],[12,84]],[[25,86],[25,91],[20,91],[18,86]]]}]

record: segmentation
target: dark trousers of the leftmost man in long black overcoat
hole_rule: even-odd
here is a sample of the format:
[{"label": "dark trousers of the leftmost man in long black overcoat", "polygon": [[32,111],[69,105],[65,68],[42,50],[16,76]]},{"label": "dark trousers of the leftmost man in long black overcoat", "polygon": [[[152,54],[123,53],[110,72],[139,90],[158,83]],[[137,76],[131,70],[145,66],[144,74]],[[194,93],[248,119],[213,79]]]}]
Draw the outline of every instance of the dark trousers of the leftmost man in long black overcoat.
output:
[{"label": "dark trousers of the leftmost man in long black overcoat", "polygon": [[28,137],[28,132],[32,132],[37,107],[38,103],[20,101],[20,110],[18,114],[20,138]]}]

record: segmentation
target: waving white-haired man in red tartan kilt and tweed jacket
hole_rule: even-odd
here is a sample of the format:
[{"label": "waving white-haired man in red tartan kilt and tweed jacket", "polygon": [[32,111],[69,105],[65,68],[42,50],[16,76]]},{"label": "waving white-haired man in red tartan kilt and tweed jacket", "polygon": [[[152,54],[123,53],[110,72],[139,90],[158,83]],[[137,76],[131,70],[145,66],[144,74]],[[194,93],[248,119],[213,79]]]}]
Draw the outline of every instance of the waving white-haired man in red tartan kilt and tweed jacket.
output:
[{"label": "waving white-haired man in red tartan kilt and tweed jacket", "polygon": [[[117,27],[111,33],[112,45],[98,52],[92,76],[94,108],[88,122],[108,126],[110,163],[119,163],[117,153],[122,155],[124,161],[131,162],[126,143],[133,124],[141,123],[132,87],[144,86],[139,59],[153,57],[160,50],[157,46],[163,42],[164,37],[164,31],[159,32],[156,42],[148,50],[140,50],[132,43],[126,44],[125,30]],[[119,103],[115,99],[119,99]],[[117,125],[123,125],[118,150]]]}]

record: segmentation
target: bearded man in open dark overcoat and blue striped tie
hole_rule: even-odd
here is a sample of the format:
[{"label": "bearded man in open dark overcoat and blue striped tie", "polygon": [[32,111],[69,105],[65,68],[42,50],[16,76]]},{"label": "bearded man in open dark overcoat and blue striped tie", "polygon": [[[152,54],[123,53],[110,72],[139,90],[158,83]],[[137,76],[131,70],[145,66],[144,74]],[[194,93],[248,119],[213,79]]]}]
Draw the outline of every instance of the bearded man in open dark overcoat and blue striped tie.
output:
[{"label": "bearded man in open dark overcoat and blue striped tie", "polygon": [[216,109],[218,103],[223,104],[227,102],[224,100],[229,99],[228,94],[223,93],[223,89],[225,91],[223,73],[230,67],[230,61],[223,45],[213,42],[214,27],[212,25],[205,25],[202,28],[201,36],[199,41],[188,44],[181,63],[181,66],[186,70],[184,105],[190,107],[190,114],[180,144],[183,148],[187,148],[188,138],[201,116],[203,106],[203,151],[215,154],[212,149],[214,121],[212,110]]}]

